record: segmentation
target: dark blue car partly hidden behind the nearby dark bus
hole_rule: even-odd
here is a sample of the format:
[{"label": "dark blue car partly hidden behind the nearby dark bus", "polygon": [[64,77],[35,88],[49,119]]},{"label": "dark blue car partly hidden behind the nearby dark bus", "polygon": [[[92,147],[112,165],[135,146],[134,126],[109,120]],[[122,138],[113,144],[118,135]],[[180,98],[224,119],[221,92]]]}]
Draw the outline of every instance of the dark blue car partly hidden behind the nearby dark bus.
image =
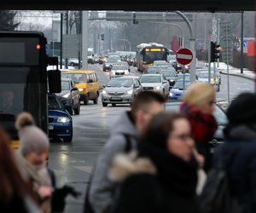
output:
[{"label": "dark blue car partly hidden behind the nearby dark bus", "polygon": [[48,129],[49,138],[56,140],[62,138],[65,142],[73,139],[73,120],[65,107],[54,94],[48,95]]}]

